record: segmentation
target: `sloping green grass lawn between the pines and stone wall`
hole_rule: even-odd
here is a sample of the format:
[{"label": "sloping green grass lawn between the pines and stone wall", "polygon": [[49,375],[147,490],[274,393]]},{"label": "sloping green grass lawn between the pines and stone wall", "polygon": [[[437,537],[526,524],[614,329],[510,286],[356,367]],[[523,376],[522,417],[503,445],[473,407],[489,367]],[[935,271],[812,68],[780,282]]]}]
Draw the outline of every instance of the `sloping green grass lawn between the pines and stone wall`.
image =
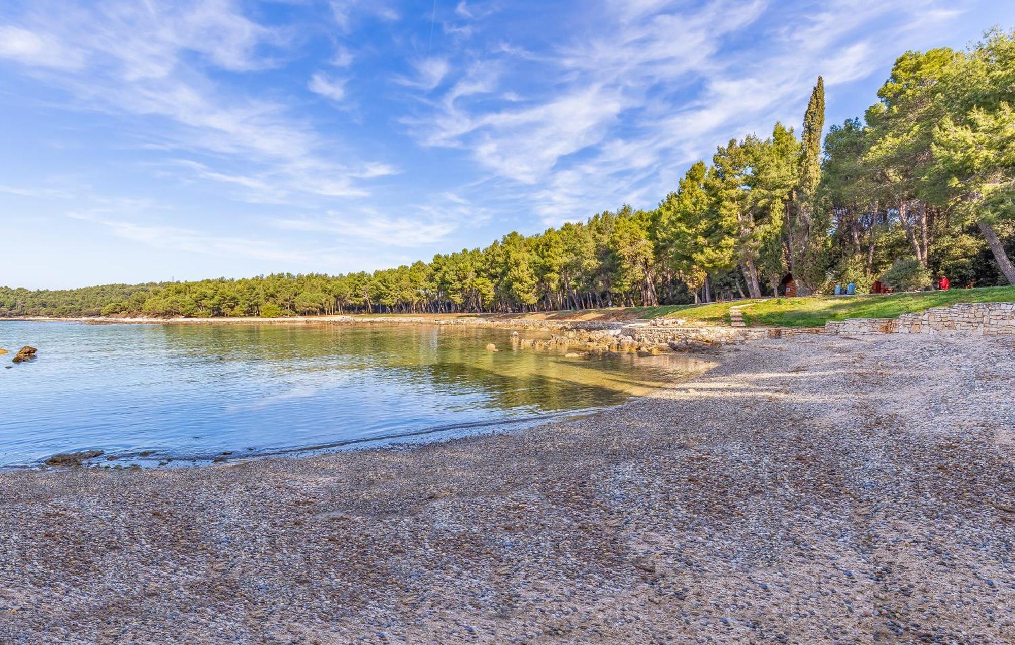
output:
[{"label": "sloping green grass lawn between the pines and stone wall", "polygon": [[897,318],[903,313],[917,313],[957,302],[1012,301],[1015,301],[1015,286],[888,295],[772,298],[745,307],[743,313],[744,322],[749,327],[815,327],[847,318]]}]

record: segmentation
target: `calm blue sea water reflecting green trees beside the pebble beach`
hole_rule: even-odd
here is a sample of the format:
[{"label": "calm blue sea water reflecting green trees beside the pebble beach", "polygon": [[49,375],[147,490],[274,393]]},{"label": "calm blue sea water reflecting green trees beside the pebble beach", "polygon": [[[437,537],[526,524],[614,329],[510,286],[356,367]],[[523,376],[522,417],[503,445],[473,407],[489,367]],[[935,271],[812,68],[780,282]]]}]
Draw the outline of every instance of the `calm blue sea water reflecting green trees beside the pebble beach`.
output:
[{"label": "calm blue sea water reflecting green trees beside the pebble beach", "polygon": [[[0,467],[80,449],[156,465],[421,441],[622,403],[677,356],[512,351],[511,332],[404,325],[0,321]],[[487,343],[501,351],[490,353]],[[697,363],[697,364],[695,364]],[[153,451],[150,455],[141,452]]]}]

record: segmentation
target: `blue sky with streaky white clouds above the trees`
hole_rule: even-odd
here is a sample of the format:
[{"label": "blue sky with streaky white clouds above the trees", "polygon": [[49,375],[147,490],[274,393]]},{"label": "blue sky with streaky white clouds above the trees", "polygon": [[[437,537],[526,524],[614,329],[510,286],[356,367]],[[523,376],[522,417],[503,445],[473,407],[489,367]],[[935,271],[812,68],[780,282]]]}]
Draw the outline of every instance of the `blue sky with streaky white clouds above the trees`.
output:
[{"label": "blue sky with streaky white clouds above the trees", "polygon": [[628,203],[862,115],[1015,3],[5,0],[0,284],[340,273]]}]

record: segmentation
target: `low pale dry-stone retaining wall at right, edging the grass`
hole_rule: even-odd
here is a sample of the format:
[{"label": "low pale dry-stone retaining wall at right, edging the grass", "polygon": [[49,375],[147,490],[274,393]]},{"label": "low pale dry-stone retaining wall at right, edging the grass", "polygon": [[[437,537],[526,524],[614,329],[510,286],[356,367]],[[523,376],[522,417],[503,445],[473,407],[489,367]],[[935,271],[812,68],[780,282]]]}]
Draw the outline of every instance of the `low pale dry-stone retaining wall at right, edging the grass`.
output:
[{"label": "low pale dry-stone retaining wall at right, edging the grass", "polygon": [[906,313],[897,320],[857,318],[825,322],[831,336],[866,334],[1015,335],[1015,302],[962,302]]}]

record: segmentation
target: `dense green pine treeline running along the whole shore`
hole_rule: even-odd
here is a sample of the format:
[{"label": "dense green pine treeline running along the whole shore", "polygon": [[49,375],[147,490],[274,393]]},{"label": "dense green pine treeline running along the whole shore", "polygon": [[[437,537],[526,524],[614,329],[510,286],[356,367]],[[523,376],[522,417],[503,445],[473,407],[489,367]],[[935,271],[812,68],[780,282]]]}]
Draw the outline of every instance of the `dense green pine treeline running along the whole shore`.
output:
[{"label": "dense green pine treeline running along the whole shore", "polygon": [[814,87],[782,124],[719,146],[651,211],[623,207],[431,262],[340,276],[0,288],[0,315],[531,311],[799,293],[876,279],[1015,284],[1015,32],[908,52],[863,120],[824,129]]}]

